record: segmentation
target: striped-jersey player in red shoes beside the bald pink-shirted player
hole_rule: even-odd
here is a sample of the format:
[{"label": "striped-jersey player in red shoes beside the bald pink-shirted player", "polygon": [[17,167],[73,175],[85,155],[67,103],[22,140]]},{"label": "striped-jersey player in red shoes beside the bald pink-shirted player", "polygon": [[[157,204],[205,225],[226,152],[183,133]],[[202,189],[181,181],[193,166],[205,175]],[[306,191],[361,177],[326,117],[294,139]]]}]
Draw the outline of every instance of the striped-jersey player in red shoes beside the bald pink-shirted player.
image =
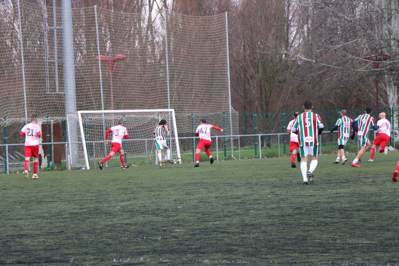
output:
[{"label": "striped-jersey player in red shoes beside the bald pink-shirted player", "polygon": [[360,141],[361,148],[356,155],[355,160],[353,160],[351,166],[353,167],[361,167],[358,165],[358,161],[366,151],[367,148],[370,148],[371,142],[369,141],[369,129],[372,127],[373,130],[377,130],[378,126],[375,124],[374,118],[370,115],[372,110],[370,107],[366,107],[364,110],[364,114],[359,115],[352,121],[353,134],[350,137],[351,140],[355,138],[356,132],[358,132],[358,139]]}]

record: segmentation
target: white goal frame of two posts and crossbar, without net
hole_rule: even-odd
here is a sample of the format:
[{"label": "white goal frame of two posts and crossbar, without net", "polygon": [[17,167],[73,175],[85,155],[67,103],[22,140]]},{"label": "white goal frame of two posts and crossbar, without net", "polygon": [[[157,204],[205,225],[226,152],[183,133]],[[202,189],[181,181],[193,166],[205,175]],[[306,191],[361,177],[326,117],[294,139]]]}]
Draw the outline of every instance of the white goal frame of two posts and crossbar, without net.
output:
[{"label": "white goal frame of two posts and crossbar, without net", "polygon": [[175,142],[176,142],[176,152],[177,152],[177,156],[178,156],[177,162],[181,163],[182,159],[180,157],[180,146],[179,146],[179,139],[178,139],[177,126],[176,126],[176,117],[175,117],[174,109],[87,110],[87,111],[78,111],[77,112],[78,119],[79,119],[80,134],[81,134],[82,144],[83,144],[83,153],[85,155],[86,169],[90,169],[90,166],[89,166],[89,158],[87,156],[85,134],[84,134],[84,131],[83,131],[82,114],[144,113],[144,112],[172,112],[173,132],[174,132],[174,138],[175,138]]}]

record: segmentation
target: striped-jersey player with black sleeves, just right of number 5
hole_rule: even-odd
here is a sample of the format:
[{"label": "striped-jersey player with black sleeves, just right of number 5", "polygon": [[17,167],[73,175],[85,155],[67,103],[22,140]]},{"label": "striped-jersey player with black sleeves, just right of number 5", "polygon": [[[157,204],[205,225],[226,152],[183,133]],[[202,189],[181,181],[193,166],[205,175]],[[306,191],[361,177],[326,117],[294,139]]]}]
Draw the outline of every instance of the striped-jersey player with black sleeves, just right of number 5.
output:
[{"label": "striped-jersey player with black sleeves, just right of number 5", "polygon": [[337,120],[335,126],[330,130],[332,133],[334,130],[338,129],[338,157],[334,161],[334,164],[338,164],[340,162],[340,156],[342,156],[342,163],[345,164],[348,159],[345,158],[345,150],[344,146],[346,146],[346,142],[348,141],[350,130],[352,127],[352,119],[346,116],[346,110],[341,110],[341,118]]}]

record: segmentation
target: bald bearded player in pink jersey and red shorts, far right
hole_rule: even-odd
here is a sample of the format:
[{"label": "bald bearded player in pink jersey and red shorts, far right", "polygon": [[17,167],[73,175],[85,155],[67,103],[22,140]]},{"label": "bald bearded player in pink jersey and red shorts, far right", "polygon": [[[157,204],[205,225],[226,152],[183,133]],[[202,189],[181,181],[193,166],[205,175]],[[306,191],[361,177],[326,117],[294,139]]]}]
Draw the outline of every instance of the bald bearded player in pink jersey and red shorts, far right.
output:
[{"label": "bald bearded player in pink jersey and red shorts, far right", "polygon": [[388,153],[388,142],[389,139],[391,138],[391,122],[386,118],[387,114],[384,112],[380,113],[378,115],[378,122],[377,126],[379,126],[377,130],[377,137],[375,138],[373,145],[371,146],[370,149],[370,160],[368,162],[374,162],[374,152],[375,148],[379,145],[379,153],[383,152],[384,154]]}]

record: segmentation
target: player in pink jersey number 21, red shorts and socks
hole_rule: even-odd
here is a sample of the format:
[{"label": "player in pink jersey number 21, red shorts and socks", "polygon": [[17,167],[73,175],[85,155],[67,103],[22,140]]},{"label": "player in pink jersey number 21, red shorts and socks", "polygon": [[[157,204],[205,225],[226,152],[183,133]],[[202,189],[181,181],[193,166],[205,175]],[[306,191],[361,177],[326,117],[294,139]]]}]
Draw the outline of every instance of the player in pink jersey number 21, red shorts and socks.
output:
[{"label": "player in pink jersey number 21, red shorts and socks", "polygon": [[33,156],[33,176],[32,179],[38,179],[39,168],[39,138],[41,135],[38,116],[36,114],[30,117],[30,123],[26,124],[22,129],[20,136],[25,136],[25,179],[29,180],[28,167],[30,157]]}]

